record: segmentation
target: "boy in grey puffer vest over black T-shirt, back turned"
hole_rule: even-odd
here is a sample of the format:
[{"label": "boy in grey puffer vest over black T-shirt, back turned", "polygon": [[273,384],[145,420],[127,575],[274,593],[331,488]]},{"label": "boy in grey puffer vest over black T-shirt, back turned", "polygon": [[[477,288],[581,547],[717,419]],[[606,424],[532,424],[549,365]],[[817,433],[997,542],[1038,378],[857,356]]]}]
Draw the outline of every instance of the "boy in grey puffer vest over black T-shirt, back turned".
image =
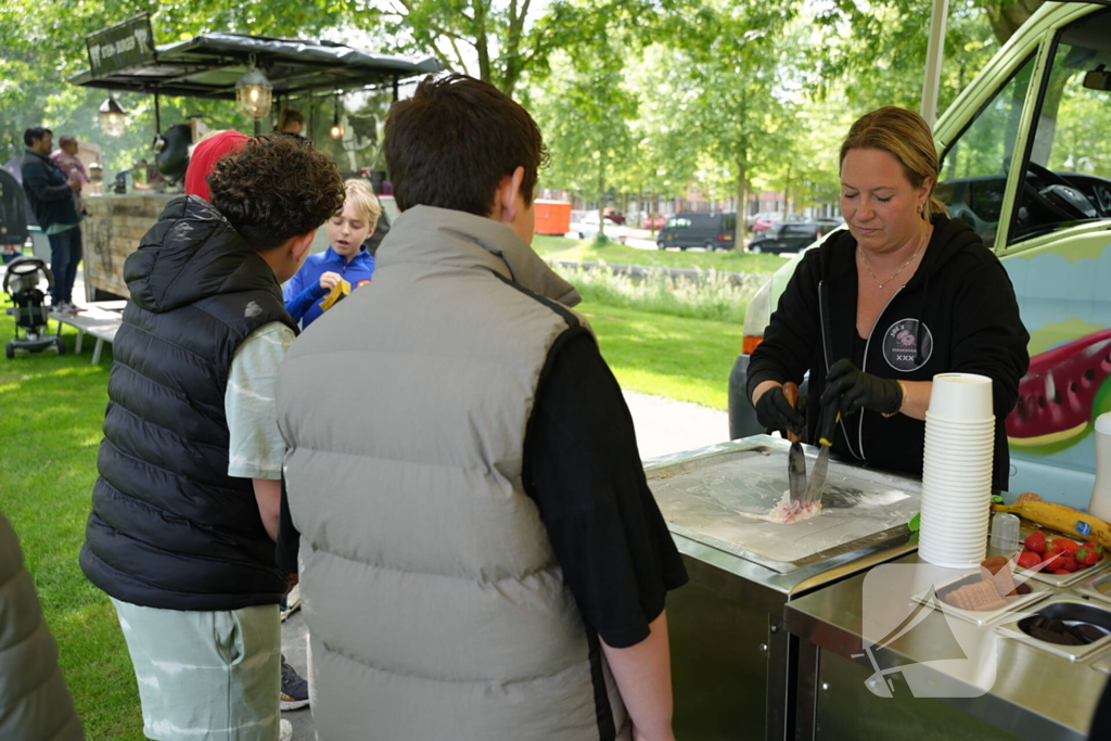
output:
[{"label": "boy in grey puffer vest over black T-shirt, back turned", "polygon": [[672,739],[687,573],[579,296],[529,247],[540,131],[453,74],[393,106],[384,149],[403,213],[374,282],[278,379],[317,732]]}]

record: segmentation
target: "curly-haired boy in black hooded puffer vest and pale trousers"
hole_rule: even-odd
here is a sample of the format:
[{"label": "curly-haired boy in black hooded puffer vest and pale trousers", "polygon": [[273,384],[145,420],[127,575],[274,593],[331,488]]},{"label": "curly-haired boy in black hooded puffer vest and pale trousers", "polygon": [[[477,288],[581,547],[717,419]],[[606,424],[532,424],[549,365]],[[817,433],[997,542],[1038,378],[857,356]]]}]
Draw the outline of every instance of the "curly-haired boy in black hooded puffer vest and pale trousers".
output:
[{"label": "curly-haired boy in black hooded puffer vest and pale trousers", "polygon": [[119,614],[148,738],[273,741],[291,732],[272,379],[297,330],[280,283],[342,208],[343,181],[312,144],[273,137],[217,161],[208,186],[211,203],[170,201],[124,262],[80,559]]}]

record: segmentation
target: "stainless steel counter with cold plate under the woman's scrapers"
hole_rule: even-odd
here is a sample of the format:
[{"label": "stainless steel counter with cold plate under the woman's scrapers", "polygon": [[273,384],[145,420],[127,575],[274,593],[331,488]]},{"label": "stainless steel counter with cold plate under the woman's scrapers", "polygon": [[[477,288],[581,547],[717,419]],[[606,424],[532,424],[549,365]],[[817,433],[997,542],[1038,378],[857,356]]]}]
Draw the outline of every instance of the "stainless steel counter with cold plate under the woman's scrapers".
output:
[{"label": "stainless steel counter with cold plate under the woman's scrapers", "polygon": [[914,550],[918,482],[843,463],[830,464],[818,518],[753,517],[787,490],[788,448],[755,435],[645,464],[691,578],[668,597],[679,738],[793,738],[798,639],[784,605]]}]

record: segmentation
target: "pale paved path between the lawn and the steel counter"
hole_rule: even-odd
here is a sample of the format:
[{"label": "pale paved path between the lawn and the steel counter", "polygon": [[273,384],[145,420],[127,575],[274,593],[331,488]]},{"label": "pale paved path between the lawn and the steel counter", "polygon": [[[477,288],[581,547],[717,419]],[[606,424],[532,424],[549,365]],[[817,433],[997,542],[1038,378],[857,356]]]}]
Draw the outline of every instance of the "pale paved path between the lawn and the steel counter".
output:
[{"label": "pale paved path between the lawn and the steel counter", "polygon": [[[693,450],[729,439],[729,415],[698,404],[624,392],[637,428],[640,455],[647,460],[665,453]],[[282,624],[282,651],[294,669],[307,675],[306,639],[308,628],[301,610]],[[312,709],[283,712],[293,724],[293,741],[313,741]]]}]

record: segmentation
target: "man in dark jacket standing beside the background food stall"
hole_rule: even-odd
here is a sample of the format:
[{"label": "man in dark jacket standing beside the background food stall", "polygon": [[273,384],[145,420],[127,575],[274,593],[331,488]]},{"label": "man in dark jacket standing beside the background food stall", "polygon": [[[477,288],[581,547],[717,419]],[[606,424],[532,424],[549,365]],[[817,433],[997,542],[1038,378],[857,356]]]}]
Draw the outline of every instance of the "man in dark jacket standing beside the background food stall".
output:
[{"label": "man in dark jacket standing beside the background food stall", "polygon": [[81,262],[81,217],[77,212],[77,196],[81,180],[67,178],[50,159],[53,132],[31,127],[23,132],[27,152],[21,172],[23,190],[39,227],[50,240],[50,270],[54,273],[50,303],[54,311],[73,312],[73,281]]}]

